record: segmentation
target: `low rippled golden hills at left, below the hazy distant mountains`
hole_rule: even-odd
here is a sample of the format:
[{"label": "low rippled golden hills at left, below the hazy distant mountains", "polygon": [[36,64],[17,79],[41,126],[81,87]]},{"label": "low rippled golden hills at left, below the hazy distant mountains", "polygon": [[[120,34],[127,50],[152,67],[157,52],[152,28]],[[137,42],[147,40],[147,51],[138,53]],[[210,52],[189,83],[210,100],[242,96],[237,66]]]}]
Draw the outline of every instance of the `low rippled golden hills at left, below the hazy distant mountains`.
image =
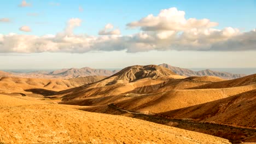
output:
[{"label": "low rippled golden hills at left, below the hazy distant mountains", "polygon": [[106,76],[86,76],[73,79],[34,79],[20,77],[0,77],[0,92],[15,93],[25,92],[31,89],[45,89],[61,91],[63,89],[78,87],[88,83],[100,81]]}]

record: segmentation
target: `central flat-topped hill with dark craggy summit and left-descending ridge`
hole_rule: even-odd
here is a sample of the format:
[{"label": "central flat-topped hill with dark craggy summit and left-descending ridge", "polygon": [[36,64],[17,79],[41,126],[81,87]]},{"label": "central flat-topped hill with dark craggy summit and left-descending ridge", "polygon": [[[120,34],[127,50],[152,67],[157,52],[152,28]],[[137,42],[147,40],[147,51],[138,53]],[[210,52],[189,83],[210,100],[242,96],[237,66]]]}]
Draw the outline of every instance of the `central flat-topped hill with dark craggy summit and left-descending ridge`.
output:
[{"label": "central flat-topped hill with dark craggy summit and left-descending ridge", "polygon": [[[172,71],[157,65],[135,65],[127,67],[102,81],[67,89],[59,92],[58,95],[65,95],[63,96],[65,99],[107,97],[132,91],[136,87],[157,85],[170,79],[170,76],[173,76],[174,79],[176,77],[181,78],[173,74]],[[162,79],[158,79],[159,77],[162,77]]]}]

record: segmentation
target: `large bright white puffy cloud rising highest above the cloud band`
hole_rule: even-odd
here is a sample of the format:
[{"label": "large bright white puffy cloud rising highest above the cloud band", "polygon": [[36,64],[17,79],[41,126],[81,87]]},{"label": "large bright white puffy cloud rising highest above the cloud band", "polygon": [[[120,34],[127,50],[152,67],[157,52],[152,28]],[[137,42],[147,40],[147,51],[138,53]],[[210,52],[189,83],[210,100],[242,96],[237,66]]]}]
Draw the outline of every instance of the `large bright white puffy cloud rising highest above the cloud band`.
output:
[{"label": "large bright white puffy cloud rising highest above the cloud band", "polygon": [[217,26],[217,22],[208,19],[185,19],[185,12],[177,8],[163,9],[158,16],[150,14],[139,21],[128,23],[127,26],[140,27],[143,31],[184,31],[191,28],[210,28]]}]

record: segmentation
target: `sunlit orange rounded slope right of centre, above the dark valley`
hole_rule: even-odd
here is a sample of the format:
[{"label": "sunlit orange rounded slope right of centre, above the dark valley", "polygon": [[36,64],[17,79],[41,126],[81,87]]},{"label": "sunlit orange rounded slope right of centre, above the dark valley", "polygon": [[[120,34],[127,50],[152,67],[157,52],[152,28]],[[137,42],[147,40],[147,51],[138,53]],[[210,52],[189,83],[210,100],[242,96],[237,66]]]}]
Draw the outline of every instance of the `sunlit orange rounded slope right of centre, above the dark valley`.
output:
[{"label": "sunlit orange rounded slope right of centre, above the dark valley", "polygon": [[126,110],[159,113],[223,99],[253,89],[256,89],[256,85],[222,89],[175,89],[162,93],[137,95],[115,105]]}]

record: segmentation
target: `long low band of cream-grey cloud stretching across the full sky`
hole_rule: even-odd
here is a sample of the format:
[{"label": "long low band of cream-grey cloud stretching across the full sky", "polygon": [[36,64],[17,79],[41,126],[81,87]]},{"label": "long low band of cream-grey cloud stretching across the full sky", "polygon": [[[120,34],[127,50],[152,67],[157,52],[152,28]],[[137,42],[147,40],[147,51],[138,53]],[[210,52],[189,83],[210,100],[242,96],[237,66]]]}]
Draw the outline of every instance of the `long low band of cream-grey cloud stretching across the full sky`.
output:
[{"label": "long low band of cream-grey cloud stretching across the full sky", "polygon": [[[175,9],[173,9],[175,11]],[[0,52],[71,52],[83,53],[88,51],[120,51],[143,52],[150,50],[189,50],[189,51],[247,51],[256,50],[256,31],[240,32],[237,28],[212,28],[210,21],[202,22],[191,19],[184,20],[184,11],[162,10],[170,14],[181,26],[175,25],[175,30],[159,29],[154,22],[149,22],[154,31],[141,31],[131,35],[120,35],[119,29],[108,23],[98,36],[74,34],[75,27],[82,24],[82,20],[73,18],[68,20],[63,32],[55,35],[19,35],[0,34]],[[167,12],[168,13],[167,13]],[[166,14],[167,13],[167,14]],[[144,19],[144,18],[143,18]],[[184,21],[183,21],[184,20]],[[190,22],[188,22],[190,20]],[[182,22],[183,21],[183,22]],[[154,25],[153,25],[153,24]],[[186,24],[187,23],[187,24]],[[188,24],[189,23],[189,24]],[[193,24],[191,24],[193,23]],[[211,23],[211,22],[210,22]],[[143,24],[146,25],[146,24]],[[170,21],[170,25],[173,22]],[[154,26],[154,28],[152,27]],[[142,26],[144,27],[144,26]],[[28,27],[29,28],[29,27]],[[30,28],[29,28],[30,29]],[[143,28],[142,28],[143,29]],[[118,30],[118,31],[115,31]],[[31,30],[30,30],[31,31]]]}]

